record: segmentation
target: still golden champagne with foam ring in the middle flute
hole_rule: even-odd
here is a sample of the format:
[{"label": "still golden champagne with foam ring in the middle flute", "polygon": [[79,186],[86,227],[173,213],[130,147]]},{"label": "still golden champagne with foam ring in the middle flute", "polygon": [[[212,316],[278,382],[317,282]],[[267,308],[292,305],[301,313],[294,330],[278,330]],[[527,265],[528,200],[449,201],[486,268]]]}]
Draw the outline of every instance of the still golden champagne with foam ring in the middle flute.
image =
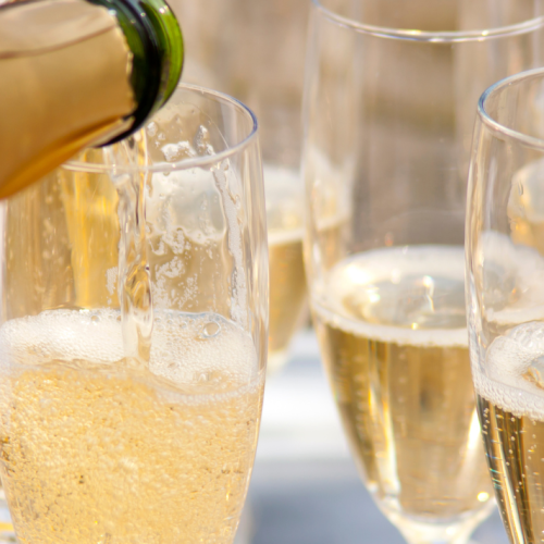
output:
[{"label": "still golden champagne with foam ring in the middle flute", "polygon": [[491,482],[467,347],[463,249],[355,255],[316,293],[312,312],[333,393],[379,505],[400,530],[407,520],[459,524],[483,517]]}]

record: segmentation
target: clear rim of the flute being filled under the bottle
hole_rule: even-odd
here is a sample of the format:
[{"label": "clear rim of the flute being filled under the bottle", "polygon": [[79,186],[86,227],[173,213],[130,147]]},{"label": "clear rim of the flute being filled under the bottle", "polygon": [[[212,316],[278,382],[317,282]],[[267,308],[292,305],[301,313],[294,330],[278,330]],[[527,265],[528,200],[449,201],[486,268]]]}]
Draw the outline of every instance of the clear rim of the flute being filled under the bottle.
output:
[{"label": "clear rim of the flute being filled under the bottle", "polygon": [[[212,99],[214,101],[222,101],[228,107],[234,108],[235,110],[238,110],[243,115],[245,115],[251,123],[251,129],[249,131],[249,134],[245,136],[243,139],[237,141],[235,145],[227,147],[227,149],[224,149],[223,151],[220,151],[214,154],[207,154],[202,157],[194,157],[189,159],[182,159],[181,161],[176,162],[159,162],[156,164],[150,164],[150,165],[138,165],[138,166],[116,166],[115,170],[118,172],[175,172],[175,171],[181,171],[181,170],[189,170],[194,168],[209,168],[211,164],[215,164],[218,162],[221,162],[234,154],[239,153],[243,149],[248,147],[254,143],[254,140],[257,138],[257,134],[259,131],[259,123],[257,121],[257,116],[255,113],[242,101],[239,101],[237,98],[234,98],[230,95],[226,95],[225,92],[220,92],[219,90],[213,90],[209,89],[206,87],[201,87],[199,85],[191,85],[191,84],[186,84],[182,83],[177,85],[175,90],[189,90],[196,94],[200,94],[201,96],[207,97],[208,99]],[[173,92],[173,95],[175,91]],[[148,120],[152,121],[152,118]],[[143,127],[144,129],[144,127]],[[111,165],[103,164],[103,163],[90,163],[90,162],[84,162],[84,161],[78,161],[78,160],[70,160],[63,163],[60,168],[64,170],[69,170],[71,172],[76,171],[76,172],[89,172],[89,173],[109,173],[113,169]]]}]

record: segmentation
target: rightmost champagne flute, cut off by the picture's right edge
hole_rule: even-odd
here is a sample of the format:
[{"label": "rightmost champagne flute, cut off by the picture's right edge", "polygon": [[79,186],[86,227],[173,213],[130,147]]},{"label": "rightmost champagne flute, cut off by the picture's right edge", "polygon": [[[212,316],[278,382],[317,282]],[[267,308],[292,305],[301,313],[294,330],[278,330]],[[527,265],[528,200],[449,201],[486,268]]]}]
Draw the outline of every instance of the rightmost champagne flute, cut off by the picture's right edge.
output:
[{"label": "rightmost champagne flute, cut off by the picture's right edge", "polygon": [[544,534],[544,71],[478,106],[467,199],[470,358],[510,542]]}]

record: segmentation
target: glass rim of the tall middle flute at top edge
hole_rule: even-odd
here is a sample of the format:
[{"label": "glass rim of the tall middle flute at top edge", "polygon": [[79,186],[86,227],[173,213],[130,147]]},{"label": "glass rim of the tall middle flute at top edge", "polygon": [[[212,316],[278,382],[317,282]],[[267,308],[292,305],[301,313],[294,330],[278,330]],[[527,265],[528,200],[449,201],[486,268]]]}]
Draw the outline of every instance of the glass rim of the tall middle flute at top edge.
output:
[{"label": "glass rim of the tall middle flute at top edge", "polygon": [[331,22],[347,29],[355,30],[360,34],[370,36],[401,39],[408,41],[421,41],[431,44],[458,44],[466,41],[482,41],[487,39],[497,39],[504,36],[516,36],[519,34],[528,34],[544,26],[544,16],[529,18],[514,25],[497,26],[496,28],[487,28],[480,30],[438,30],[426,32],[411,28],[392,28],[387,26],[369,25],[356,21],[355,18],[345,17],[335,11],[323,5],[323,0],[311,0],[313,7],[322,13],[322,15]]}]

